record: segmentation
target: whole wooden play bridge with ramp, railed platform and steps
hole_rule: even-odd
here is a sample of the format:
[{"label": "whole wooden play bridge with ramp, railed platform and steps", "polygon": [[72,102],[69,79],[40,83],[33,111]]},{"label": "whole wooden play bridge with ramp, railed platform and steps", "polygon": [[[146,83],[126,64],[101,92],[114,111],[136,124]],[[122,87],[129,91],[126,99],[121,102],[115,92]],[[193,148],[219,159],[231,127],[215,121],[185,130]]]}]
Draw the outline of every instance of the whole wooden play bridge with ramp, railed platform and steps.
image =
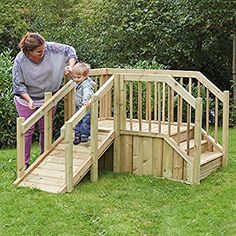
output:
[{"label": "whole wooden play bridge with ramp, railed platform and steps", "polygon": [[[88,108],[75,112],[72,80],[31,117],[17,119],[17,186],[71,192],[99,168],[199,184],[228,161],[229,92],[196,71],[93,69],[91,140],[73,145],[73,128]],[[64,99],[65,124],[52,143],[51,108]],[[24,134],[45,119],[45,151],[25,171]]]}]

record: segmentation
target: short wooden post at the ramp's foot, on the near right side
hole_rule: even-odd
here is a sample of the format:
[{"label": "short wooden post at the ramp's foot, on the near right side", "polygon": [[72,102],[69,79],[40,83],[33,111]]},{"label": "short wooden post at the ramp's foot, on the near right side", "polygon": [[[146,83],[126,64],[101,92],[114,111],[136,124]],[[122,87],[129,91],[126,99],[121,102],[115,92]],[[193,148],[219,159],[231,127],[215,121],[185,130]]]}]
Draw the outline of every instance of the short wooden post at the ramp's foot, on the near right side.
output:
[{"label": "short wooden post at the ramp's foot, on the near right side", "polygon": [[73,190],[73,127],[71,122],[65,123],[65,180],[67,192]]}]

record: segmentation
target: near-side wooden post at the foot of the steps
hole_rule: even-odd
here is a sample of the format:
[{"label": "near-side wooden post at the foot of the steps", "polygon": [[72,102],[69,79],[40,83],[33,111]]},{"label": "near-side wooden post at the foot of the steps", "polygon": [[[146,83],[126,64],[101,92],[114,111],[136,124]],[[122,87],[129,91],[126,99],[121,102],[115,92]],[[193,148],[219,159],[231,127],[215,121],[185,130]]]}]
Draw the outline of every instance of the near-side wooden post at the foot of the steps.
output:
[{"label": "near-side wooden post at the foot of the steps", "polygon": [[202,98],[196,98],[195,127],[194,127],[194,156],[192,183],[200,183],[200,160],[202,140]]}]

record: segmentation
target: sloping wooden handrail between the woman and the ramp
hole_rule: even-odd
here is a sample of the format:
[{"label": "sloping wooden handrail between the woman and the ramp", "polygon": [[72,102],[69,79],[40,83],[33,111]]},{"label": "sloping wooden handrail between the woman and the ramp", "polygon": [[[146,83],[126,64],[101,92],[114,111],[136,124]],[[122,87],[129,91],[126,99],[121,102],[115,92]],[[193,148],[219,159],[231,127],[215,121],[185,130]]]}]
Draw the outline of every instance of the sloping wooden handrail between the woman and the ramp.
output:
[{"label": "sloping wooden handrail between the woman and the ramp", "polygon": [[46,112],[48,112],[72,89],[73,81],[69,81],[60,90],[58,90],[50,99],[48,99],[32,116],[25,120],[21,126],[21,133],[24,134],[32,125],[34,125]]}]

